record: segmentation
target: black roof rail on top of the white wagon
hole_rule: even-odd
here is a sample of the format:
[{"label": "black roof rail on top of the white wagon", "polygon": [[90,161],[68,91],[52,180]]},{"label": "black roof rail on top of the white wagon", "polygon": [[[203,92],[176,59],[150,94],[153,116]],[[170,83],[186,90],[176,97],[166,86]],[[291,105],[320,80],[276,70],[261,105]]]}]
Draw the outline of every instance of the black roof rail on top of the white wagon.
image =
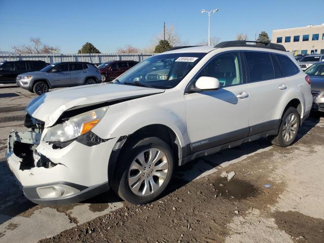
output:
[{"label": "black roof rail on top of the white wagon", "polygon": [[[247,43],[255,43],[255,45],[248,45]],[[267,49],[287,52],[284,46],[270,43],[270,42],[266,43],[266,42],[253,42],[253,41],[229,41],[229,42],[221,42],[215,46],[215,48],[225,48],[225,47],[256,47],[256,48],[267,48]]]}]

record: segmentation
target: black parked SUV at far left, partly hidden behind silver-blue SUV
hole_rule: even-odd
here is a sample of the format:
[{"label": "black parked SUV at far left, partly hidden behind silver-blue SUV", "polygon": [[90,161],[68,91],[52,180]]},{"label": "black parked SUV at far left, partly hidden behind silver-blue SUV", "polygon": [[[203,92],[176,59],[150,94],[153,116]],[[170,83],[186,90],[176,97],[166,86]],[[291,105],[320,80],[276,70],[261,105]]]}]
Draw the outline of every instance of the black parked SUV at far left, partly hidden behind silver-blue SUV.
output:
[{"label": "black parked SUV at far left, partly hidden behind silver-blue SUV", "polygon": [[44,61],[3,61],[0,62],[0,82],[16,83],[16,77],[25,72],[39,71],[47,66]]}]

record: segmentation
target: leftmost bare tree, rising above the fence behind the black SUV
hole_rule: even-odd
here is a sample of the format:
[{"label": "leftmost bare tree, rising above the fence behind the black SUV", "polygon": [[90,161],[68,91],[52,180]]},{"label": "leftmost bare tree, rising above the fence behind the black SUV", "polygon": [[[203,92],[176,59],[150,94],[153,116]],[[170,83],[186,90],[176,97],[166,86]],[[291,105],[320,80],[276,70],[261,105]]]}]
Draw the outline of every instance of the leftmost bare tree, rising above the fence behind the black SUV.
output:
[{"label": "leftmost bare tree, rising above the fence behind the black SUV", "polygon": [[16,53],[20,54],[50,54],[50,53],[57,53],[60,51],[58,47],[52,47],[49,45],[45,45],[42,43],[41,38],[30,38],[31,45],[23,45],[20,47],[12,47]]}]

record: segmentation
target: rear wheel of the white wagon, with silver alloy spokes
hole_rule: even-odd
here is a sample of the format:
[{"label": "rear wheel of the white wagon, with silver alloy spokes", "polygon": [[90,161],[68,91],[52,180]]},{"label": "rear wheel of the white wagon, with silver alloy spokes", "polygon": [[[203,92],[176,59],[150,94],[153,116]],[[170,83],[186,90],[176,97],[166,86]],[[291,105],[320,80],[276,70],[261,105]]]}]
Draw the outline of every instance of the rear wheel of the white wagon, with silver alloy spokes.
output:
[{"label": "rear wheel of the white wagon, with silver alloy spokes", "polygon": [[300,125],[300,115],[296,108],[289,107],[282,115],[278,135],[270,137],[272,144],[287,147],[293,144]]}]

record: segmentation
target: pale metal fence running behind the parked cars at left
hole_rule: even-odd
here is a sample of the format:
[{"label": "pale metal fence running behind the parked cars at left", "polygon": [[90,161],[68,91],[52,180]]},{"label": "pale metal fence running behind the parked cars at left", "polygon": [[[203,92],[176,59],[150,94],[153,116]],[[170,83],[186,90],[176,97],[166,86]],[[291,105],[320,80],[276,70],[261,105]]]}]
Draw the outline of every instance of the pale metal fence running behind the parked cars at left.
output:
[{"label": "pale metal fence running behind the parked cars at left", "polygon": [[91,62],[134,60],[141,62],[154,53],[114,53],[114,54],[0,54],[0,61],[42,60],[47,63],[55,62]]}]

